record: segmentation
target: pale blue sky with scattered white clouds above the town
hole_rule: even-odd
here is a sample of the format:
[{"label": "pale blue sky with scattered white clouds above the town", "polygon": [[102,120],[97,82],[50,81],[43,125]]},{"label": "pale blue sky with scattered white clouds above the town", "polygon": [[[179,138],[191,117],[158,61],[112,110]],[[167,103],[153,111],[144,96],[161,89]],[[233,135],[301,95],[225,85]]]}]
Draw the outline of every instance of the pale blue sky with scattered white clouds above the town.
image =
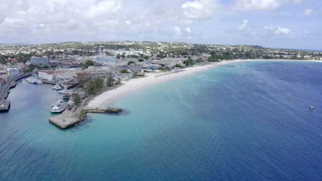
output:
[{"label": "pale blue sky with scattered white clouds above the town", "polygon": [[322,49],[321,0],[0,0],[0,43],[138,40]]}]

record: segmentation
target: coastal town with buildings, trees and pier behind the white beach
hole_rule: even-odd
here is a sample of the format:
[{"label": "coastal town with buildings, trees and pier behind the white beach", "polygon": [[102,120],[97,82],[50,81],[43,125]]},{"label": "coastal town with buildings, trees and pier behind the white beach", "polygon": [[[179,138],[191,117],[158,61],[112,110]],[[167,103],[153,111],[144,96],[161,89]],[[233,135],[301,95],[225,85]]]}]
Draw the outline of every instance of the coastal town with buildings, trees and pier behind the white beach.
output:
[{"label": "coastal town with buildings, trees and pier behind the white beach", "polygon": [[[229,62],[234,59],[322,60],[322,52],[317,51],[178,42],[6,45],[0,47],[0,53],[0,111],[9,110],[10,101],[7,97],[10,88],[16,85],[15,81],[30,76],[26,79],[29,83],[52,84],[52,88],[62,94],[62,100],[68,101],[64,103],[59,100],[51,107],[52,112],[63,114],[50,118],[49,121],[63,129],[84,120],[84,115],[88,112],[120,113],[120,109],[98,107],[103,102],[90,103],[90,109],[86,106],[92,98],[131,79],[150,74],[156,78],[169,73],[179,73],[195,65],[223,66],[214,62]],[[195,70],[197,69],[190,69],[190,72]],[[144,86],[146,83],[138,82],[135,86]],[[69,90],[70,88],[73,89]],[[113,95],[113,92],[109,94]],[[117,95],[115,92],[114,94]]]}]

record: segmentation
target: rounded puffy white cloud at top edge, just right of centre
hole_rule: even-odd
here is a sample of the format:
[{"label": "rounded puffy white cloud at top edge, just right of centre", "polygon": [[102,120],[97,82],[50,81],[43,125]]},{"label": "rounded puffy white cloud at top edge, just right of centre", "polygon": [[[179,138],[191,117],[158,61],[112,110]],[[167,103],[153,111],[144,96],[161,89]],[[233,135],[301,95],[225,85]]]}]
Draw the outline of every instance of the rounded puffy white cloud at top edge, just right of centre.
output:
[{"label": "rounded puffy white cloud at top edge, just right of centre", "polygon": [[181,9],[186,19],[208,20],[216,11],[219,11],[220,5],[217,0],[196,0],[184,3]]}]

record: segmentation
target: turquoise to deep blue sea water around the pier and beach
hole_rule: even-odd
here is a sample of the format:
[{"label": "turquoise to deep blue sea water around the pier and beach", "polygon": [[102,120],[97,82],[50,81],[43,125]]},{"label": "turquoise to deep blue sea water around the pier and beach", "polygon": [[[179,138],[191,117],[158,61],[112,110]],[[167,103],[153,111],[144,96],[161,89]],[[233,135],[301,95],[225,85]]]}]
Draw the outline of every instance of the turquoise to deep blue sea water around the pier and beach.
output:
[{"label": "turquoise to deep blue sea water around the pier and beach", "polygon": [[48,122],[61,99],[51,85],[19,80],[0,114],[0,180],[321,180],[322,63],[233,65],[139,90],[113,103],[125,114],[66,130]]}]

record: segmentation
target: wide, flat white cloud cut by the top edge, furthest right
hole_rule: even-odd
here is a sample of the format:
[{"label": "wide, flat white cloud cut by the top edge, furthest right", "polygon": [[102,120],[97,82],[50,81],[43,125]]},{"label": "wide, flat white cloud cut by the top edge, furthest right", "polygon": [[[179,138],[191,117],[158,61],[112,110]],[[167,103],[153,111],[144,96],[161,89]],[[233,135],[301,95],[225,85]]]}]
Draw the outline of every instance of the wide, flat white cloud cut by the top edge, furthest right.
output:
[{"label": "wide, flat white cloud cut by the top edge, furthest right", "polygon": [[235,11],[262,11],[276,10],[283,5],[301,3],[300,0],[234,0],[232,10]]}]

